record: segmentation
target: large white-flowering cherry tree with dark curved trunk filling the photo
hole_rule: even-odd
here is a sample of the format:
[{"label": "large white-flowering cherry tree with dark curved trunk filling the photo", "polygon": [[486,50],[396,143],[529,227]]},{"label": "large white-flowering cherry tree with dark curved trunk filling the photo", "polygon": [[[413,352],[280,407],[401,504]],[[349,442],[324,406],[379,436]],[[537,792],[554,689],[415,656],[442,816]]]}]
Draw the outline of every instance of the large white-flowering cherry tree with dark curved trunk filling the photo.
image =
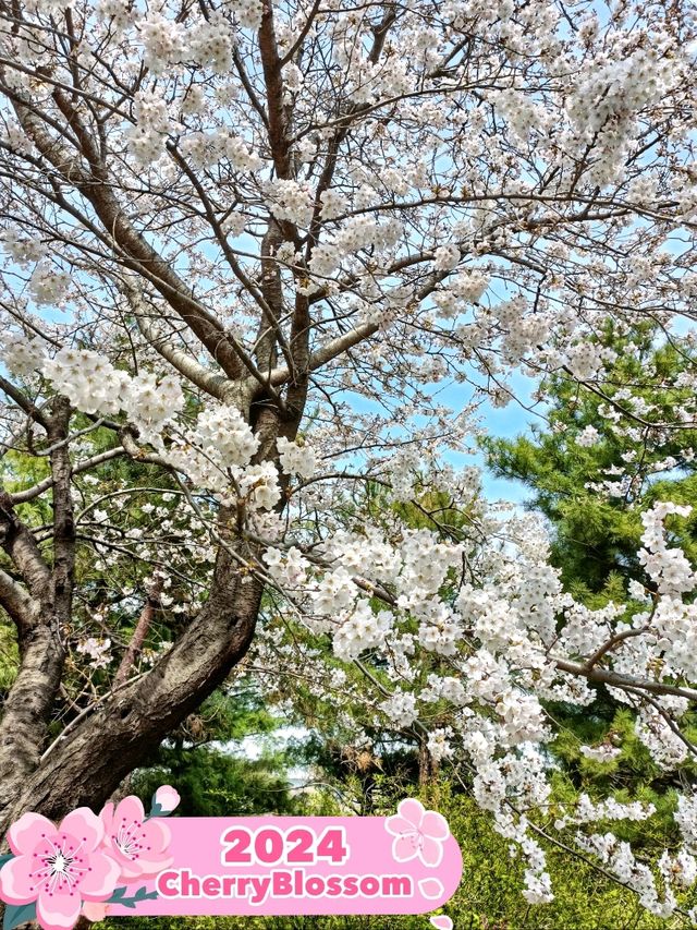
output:
[{"label": "large white-flowering cherry tree with dark curved trunk filling the photo", "polygon": [[[456,456],[488,406],[526,402],[521,373],[583,382],[637,428],[694,428],[694,401],[667,420],[603,379],[609,327],[632,352],[692,318],[693,4],[0,10],[3,448],[38,475],[9,468],[0,498],[20,651],[0,828],[106,800],[259,628],[270,676],[321,689],[351,663],[383,725],[465,753],[528,899],[549,899],[543,702],[602,685],[661,764],[694,751],[697,581],[665,529],[684,510],[645,515],[646,609],[594,612],[540,521],[489,508]],[[357,517],[368,485],[448,494],[465,528]],[[147,665],[162,605],[178,636]],[[289,617],[331,657],[288,642]],[[80,662],[102,677],[75,701]],[[451,722],[429,732],[437,702]],[[668,915],[697,874],[690,793],[653,871],[592,828],[648,816],[588,799],[554,829]]]}]

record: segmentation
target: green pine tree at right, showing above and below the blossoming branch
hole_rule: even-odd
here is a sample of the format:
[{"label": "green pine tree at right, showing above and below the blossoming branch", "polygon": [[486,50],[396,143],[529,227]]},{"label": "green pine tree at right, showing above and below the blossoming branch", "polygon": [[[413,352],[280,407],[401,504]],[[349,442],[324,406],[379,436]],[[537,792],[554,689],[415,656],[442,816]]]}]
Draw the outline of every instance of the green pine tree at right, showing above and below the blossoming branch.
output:
[{"label": "green pine tree at right, showing above and below the blossoming branch", "polygon": [[[543,420],[514,439],[485,437],[484,447],[494,474],[521,482],[529,492],[525,507],[549,520],[550,559],[566,588],[590,606],[614,602],[636,614],[647,592],[656,595],[637,557],[641,514],[657,500],[697,503],[690,424],[676,433],[641,422],[647,414],[653,422],[670,419],[688,397],[681,383],[689,377],[692,340],[674,337],[657,348],[647,327],[629,342],[609,328],[603,342],[616,361],[602,385],[548,378]],[[694,510],[673,518],[671,540],[695,558]],[[643,797],[659,808],[661,829],[670,832],[670,795],[694,781],[694,760],[670,774],[657,765],[626,705],[602,686],[589,706],[553,704],[551,713],[563,722],[553,744],[564,764],[559,790]],[[689,729],[695,733],[694,715]]]}]

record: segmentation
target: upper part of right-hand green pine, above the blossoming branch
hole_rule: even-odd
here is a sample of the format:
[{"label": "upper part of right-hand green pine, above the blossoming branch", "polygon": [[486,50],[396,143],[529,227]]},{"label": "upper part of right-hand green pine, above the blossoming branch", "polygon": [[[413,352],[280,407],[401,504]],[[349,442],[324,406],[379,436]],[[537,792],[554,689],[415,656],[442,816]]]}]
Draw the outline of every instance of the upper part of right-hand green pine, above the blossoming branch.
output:
[{"label": "upper part of right-hand green pine, above the blossoming branch", "polygon": [[[530,491],[526,506],[549,519],[552,563],[588,603],[602,602],[594,594],[622,600],[627,578],[651,588],[637,559],[641,512],[657,500],[697,503],[693,424],[658,425],[689,401],[692,338],[657,348],[651,327],[631,340],[610,327],[602,343],[616,360],[601,386],[549,377],[540,388],[543,421],[530,435],[484,439],[488,467],[522,482]],[[695,516],[676,518],[671,529],[694,559]]]}]

